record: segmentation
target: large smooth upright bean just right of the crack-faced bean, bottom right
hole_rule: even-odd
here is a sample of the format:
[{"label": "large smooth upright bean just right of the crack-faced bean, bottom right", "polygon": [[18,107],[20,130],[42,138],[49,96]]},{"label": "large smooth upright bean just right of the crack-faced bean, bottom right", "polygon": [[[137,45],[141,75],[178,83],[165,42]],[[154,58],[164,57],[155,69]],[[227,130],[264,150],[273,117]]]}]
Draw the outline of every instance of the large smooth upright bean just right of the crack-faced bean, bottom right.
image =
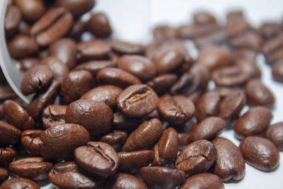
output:
[{"label": "large smooth upright bean just right of the crack-faced bean, bottom right", "polygon": [[245,175],[246,166],[240,149],[229,139],[222,137],[212,140],[212,144],[217,149],[213,173],[222,181],[241,180]]}]

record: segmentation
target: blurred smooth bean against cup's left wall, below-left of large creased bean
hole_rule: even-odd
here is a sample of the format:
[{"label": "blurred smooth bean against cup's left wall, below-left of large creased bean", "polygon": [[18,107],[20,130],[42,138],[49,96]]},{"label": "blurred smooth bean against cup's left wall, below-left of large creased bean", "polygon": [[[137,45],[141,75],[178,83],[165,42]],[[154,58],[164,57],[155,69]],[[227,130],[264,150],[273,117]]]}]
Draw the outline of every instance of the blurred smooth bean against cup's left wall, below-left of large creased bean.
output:
[{"label": "blurred smooth bean against cup's left wall, below-left of large creased bean", "polygon": [[39,47],[33,38],[28,35],[17,35],[7,44],[8,52],[13,58],[23,58],[35,55]]}]

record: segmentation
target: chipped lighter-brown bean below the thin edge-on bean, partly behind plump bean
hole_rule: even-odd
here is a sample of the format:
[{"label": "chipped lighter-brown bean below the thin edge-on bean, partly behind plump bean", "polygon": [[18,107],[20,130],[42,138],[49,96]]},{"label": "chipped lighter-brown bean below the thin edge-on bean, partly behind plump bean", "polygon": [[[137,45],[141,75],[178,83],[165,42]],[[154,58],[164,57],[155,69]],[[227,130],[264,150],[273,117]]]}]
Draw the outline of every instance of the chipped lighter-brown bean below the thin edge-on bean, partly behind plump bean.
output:
[{"label": "chipped lighter-brown bean below the thin edge-on bean, partly behind plump bean", "polygon": [[67,105],[48,105],[44,110],[42,110],[42,124],[45,129],[49,127],[54,127],[59,124],[64,124],[66,121],[65,113]]}]

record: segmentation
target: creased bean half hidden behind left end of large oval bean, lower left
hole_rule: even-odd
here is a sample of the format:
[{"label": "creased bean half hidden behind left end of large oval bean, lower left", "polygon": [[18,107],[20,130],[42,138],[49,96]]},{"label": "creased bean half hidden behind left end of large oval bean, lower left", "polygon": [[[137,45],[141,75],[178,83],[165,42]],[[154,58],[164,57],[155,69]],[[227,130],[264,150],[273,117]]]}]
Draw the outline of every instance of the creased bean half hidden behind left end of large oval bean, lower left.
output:
[{"label": "creased bean half hidden behind left end of large oval bean, lower left", "polygon": [[33,156],[40,156],[40,134],[43,130],[25,130],[21,136],[23,148]]}]

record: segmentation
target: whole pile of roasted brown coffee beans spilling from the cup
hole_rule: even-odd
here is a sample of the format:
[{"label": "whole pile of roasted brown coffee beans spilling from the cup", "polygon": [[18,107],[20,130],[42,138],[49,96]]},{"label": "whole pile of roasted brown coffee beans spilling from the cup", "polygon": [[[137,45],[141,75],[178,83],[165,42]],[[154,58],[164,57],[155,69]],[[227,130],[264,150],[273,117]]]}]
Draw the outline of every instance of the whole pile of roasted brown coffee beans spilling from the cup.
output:
[{"label": "whole pile of roasted brown coffee beans spilling from the cup", "polygon": [[[58,188],[224,188],[243,179],[246,163],[277,168],[283,122],[270,125],[275,98],[256,57],[283,82],[283,22],[253,28],[233,11],[224,25],[197,12],[139,45],[112,38],[105,13],[83,21],[95,4],[8,1],[7,47],[33,100],[23,103],[1,76],[0,188],[45,179]],[[239,147],[218,137],[224,130]]]}]

